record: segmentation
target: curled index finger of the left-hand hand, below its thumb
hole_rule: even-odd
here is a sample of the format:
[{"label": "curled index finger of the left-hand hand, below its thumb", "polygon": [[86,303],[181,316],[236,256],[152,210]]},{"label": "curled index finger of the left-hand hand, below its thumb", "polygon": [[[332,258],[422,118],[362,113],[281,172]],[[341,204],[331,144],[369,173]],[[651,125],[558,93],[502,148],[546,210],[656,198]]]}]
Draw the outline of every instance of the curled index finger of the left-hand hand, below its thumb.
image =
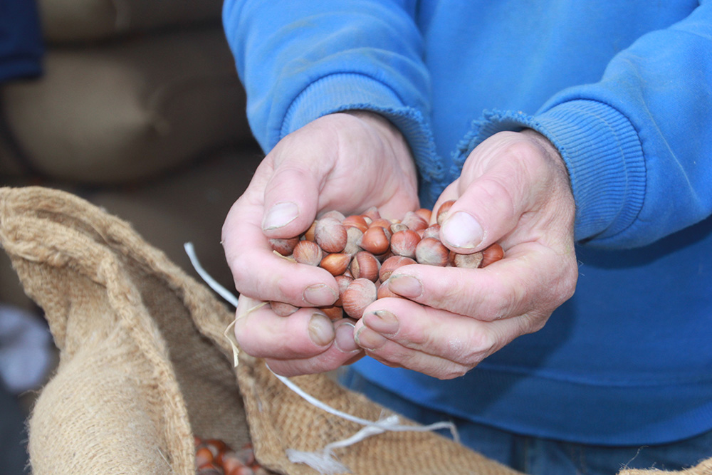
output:
[{"label": "curled index finger of the left-hand hand, below its thumb", "polygon": [[237,290],[262,301],[299,307],[334,303],[338,286],[328,271],[273,252],[261,229],[261,209],[249,196],[243,196],[233,205],[223,226],[225,257]]}]

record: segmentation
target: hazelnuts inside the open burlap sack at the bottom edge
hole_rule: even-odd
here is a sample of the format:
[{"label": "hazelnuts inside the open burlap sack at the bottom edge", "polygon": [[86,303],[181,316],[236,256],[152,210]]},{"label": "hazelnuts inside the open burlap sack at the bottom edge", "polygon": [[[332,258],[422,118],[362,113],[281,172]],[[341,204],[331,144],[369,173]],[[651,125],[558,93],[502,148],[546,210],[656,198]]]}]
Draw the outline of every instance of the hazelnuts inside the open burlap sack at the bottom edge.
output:
[{"label": "hazelnuts inside the open burlap sack at the bottom edge", "polygon": [[195,437],[196,475],[268,475],[255,460],[251,444],[231,449],[219,439]]}]

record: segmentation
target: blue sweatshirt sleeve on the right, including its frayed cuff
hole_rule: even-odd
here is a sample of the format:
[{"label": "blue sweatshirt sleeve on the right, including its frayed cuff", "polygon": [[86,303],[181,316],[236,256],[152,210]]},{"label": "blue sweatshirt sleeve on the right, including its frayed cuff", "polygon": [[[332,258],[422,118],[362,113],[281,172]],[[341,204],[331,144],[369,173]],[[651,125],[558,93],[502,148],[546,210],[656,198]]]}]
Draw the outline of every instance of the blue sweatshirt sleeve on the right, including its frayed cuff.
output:
[{"label": "blue sweatshirt sleeve on the right, including its frayed cuff", "polygon": [[533,116],[490,112],[459,161],[489,135],[531,127],[570,172],[575,236],[644,246],[712,214],[712,4],[647,33],[612,58],[598,83],[557,93]]}]

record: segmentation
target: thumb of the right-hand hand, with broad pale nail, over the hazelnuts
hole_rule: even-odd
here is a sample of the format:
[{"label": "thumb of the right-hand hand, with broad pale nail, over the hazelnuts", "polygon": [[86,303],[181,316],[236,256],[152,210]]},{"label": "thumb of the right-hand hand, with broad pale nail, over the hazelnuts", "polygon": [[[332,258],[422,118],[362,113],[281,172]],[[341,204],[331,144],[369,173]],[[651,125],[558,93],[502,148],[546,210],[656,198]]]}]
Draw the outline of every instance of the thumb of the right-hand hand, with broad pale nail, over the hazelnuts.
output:
[{"label": "thumb of the right-hand hand, with broad pale nail, over the hazelnuts", "polygon": [[514,132],[476,147],[458,180],[459,197],[442,224],[443,243],[470,254],[511,231],[546,182],[541,154],[540,146]]}]

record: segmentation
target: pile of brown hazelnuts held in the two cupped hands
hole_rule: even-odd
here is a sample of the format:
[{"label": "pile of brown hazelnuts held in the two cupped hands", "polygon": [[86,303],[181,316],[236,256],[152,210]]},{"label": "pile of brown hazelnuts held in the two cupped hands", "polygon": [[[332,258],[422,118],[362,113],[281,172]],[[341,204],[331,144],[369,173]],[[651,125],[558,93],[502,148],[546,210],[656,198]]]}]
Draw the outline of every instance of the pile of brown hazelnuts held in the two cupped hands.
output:
[{"label": "pile of brown hazelnuts held in the two cupped hands", "polygon": [[[271,239],[272,249],[286,259],[320,266],[335,276],[339,298],[333,306],[321,308],[332,320],[361,318],[363,310],[378,298],[399,297],[384,285],[391,273],[408,264],[480,268],[504,257],[499,244],[474,254],[456,254],[439,239],[440,226],[454,201],[437,210],[436,224],[430,225],[432,212],[418,209],[403,219],[388,220],[376,208],[363,214],[344,216],[327,212],[301,236]],[[278,315],[298,310],[288,303],[271,302]]]}]

